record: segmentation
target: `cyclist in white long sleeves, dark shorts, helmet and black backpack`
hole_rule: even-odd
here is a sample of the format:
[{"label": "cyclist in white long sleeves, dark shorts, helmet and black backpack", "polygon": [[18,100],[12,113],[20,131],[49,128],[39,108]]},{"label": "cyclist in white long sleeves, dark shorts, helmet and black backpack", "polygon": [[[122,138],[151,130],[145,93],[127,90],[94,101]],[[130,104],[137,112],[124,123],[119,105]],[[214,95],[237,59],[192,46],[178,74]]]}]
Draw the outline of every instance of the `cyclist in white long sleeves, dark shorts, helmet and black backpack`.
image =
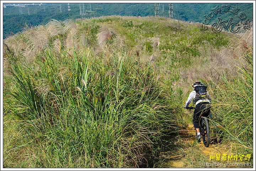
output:
[{"label": "cyclist in white long sleeves, dark shorts, helmet and black backpack", "polygon": [[[194,90],[188,96],[185,108],[187,108],[190,102],[192,101],[192,99],[194,99],[194,104],[196,104],[196,108],[194,109],[193,124],[197,132],[197,135],[195,138],[200,139],[201,135],[199,131],[199,117],[202,113],[206,116],[210,115],[210,107],[207,106],[207,104],[210,104],[212,99],[210,98],[210,95],[206,90],[207,86],[205,86],[201,82],[199,81],[194,82],[192,86],[194,87]],[[202,86],[202,87],[197,87],[197,86]],[[200,89],[201,92],[199,92],[198,89]],[[203,92],[202,89],[204,89],[205,95],[200,96],[199,93],[202,94]]]}]

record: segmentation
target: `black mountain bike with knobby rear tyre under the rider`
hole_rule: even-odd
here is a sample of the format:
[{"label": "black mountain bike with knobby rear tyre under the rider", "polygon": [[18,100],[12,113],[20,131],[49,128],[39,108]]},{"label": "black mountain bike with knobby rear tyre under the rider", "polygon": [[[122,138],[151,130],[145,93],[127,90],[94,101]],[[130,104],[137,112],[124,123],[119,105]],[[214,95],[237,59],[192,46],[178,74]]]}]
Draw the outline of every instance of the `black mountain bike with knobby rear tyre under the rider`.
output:
[{"label": "black mountain bike with knobby rear tyre under the rider", "polygon": [[[185,108],[185,107],[184,107]],[[195,109],[194,107],[186,107],[185,109]],[[208,117],[209,115],[206,116],[204,112],[201,113],[199,117],[199,131],[203,139],[203,143],[205,147],[209,147],[210,144],[210,128],[209,128],[209,122],[208,122]],[[197,131],[196,131],[197,135]]]}]

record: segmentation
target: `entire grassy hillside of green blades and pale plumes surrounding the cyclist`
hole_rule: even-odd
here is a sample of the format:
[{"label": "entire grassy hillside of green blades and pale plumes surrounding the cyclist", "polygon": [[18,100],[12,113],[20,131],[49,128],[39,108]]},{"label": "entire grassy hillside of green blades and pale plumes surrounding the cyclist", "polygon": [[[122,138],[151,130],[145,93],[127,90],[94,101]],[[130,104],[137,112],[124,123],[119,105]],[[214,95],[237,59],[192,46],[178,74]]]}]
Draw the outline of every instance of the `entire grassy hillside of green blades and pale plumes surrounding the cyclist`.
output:
[{"label": "entire grassy hillside of green blades and pale plumes surrounding the cyclist", "polygon": [[252,153],[252,29],[200,28],[109,16],[6,38],[4,167],[161,167],[160,153],[180,148],[197,80],[212,95],[214,135]]}]

